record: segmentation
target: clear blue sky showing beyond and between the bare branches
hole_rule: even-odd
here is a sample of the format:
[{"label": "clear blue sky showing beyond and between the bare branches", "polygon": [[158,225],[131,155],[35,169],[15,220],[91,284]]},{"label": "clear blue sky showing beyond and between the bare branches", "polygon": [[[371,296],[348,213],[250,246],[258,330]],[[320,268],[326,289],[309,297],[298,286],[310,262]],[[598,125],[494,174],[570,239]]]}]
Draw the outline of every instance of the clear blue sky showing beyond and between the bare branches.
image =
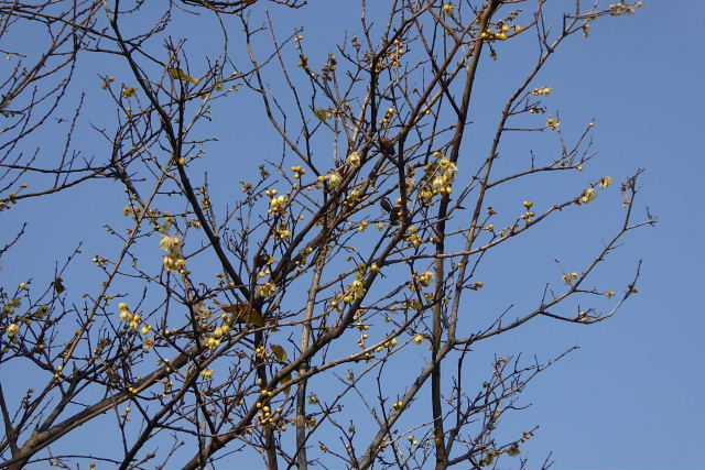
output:
[{"label": "clear blue sky showing beyond and between the bare branches", "polygon": [[[388,3],[375,1],[382,10]],[[299,11],[275,7],[270,11],[282,32],[305,26],[306,41],[315,53],[327,52],[346,29],[358,28],[357,6],[354,0],[310,0]],[[532,406],[512,414],[506,423],[508,430],[540,426],[524,451],[533,463],[552,451],[554,468],[558,469],[705,468],[705,311],[697,294],[705,262],[705,225],[701,218],[705,174],[704,18],[702,1],[647,0],[634,15],[595,22],[588,40],[570,40],[538,80],[554,89],[549,106],[560,110],[566,133],[575,134],[595,118],[594,147],[599,154],[586,166],[581,181],[605,175],[622,181],[637,168],[646,168],[638,215],[648,206],[658,225],[628,236],[599,273],[606,281],[600,285],[619,282],[615,285],[622,288],[622,281],[643,259],[639,294],[614,318],[590,327],[536,321],[478,347],[478,358],[521,352],[527,359],[535,354],[541,360],[581,347],[532,382],[523,395],[524,404]],[[189,39],[188,47],[206,51],[208,43],[220,41],[216,29],[199,29],[200,22],[213,22],[213,18],[193,21],[198,33]],[[96,74],[119,75],[117,66],[102,61],[107,61],[105,56],[91,57],[93,69],[84,69],[79,76],[89,101],[84,125],[99,124],[102,118]],[[488,145],[487,138],[482,140],[482,119],[497,118],[512,69],[513,63],[502,61],[488,63],[486,69],[480,67],[480,74],[486,75],[478,81],[477,108],[470,117],[477,120],[477,130],[469,128],[478,145]],[[215,132],[238,128],[241,132],[237,142],[229,141],[228,145],[235,145],[230,151],[248,156],[230,162],[226,171],[207,168],[214,187],[229,184],[231,190],[240,172],[254,174],[257,155],[263,147],[274,152],[281,149],[275,139],[261,142],[253,138],[260,131],[271,131],[256,103],[242,98],[215,110]],[[78,136],[85,140],[89,155],[101,156],[108,149],[95,133],[82,132]],[[58,134],[47,131],[44,138],[58,139]],[[214,149],[217,153],[224,147]],[[520,198],[529,190],[535,200],[547,199],[554,188],[541,183],[517,188],[506,197]],[[619,190],[612,189],[600,195],[599,201],[619,207]],[[227,197],[226,193],[215,196]],[[122,206],[119,188],[110,192],[91,185],[56,198],[28,201],[22,212],[1,214],[1,243],[20,221],[32,223],[23,242],[3,260],[0,283],[15,285],[26,276],[36,276],[33,270],[40,262],[48,270],[53,260],[68,254],[78,240],[86,242],[84,255],[93,258],[109,240],[101,225],[121,217]],[[554,258],[570,263],[589,256],[614,233],[615,225],[609,222],[617,220],[615,214],[618,210],[605,214],[599,206],[586,207],[579,217],[561,219],[566,225],[556,226],[555,231],[538,231],[533,239],[510,245],[488,260],[481,273],[487,280],[484,305],[495,305],[499,299],[502,303],[496,308],[503,309],[513,297],[520,305],[522,300],[535,300],[544,278],[556,275]],[[89,269],[79,270],[69,282],[89,282],[90,275]],[[399,374],[404,376],[404,371]],[[23,393],[20,386],[18,391]]]}]

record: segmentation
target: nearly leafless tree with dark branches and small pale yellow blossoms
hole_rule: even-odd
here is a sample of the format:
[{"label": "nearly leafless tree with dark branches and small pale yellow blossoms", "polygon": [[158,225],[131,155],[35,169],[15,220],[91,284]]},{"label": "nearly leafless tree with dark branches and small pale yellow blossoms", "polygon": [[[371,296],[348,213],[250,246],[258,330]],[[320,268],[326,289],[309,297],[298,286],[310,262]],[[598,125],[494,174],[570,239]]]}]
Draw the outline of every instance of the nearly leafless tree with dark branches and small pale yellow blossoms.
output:
[{"label": "nearly leafless tree with dark branches and small pale yellow blossoms", "polygon": [[[535,306],[500,298],[488,315],[478,273],[488,253],[599,204],[612,184],[584,182],[550,204],[502,196],[540,174],[582,175],[594,122],[564,135],[540,73],[571,36],[641,2],[360,1],[359,24],[323,61],[302,30],[278,26],[314,8],[304,1],[148,3],[0,1],[0,217],[31,222],[41,216],[17,214],[29,199],[95,197],[90,182],[126,195],[93,285],[62,277],[88,269],[79,247],[50,275],[0,286],[0,467],[216,468],[241,452],[268,469],[523,468],[510,459],[534,429],[499,439],[496,428],[564,354],[498,354],[476,384],[473,348],[538,318],[603,321],[637,292],[640,263],[620,292],[594,277],[627,232],[655,222],[633,220],[639,172],[621,184],[623,217],[603,248],[561,266]],[[189,21],[223,41],[191,47]],[[479,77],[491,80],[512,44],[535,44],[533,64],[497,94],[491,135],[469,139]],[[106,113],[89,119],[96,64],[93,106]],[[228,150],[260,163],[237,198],[212,190],[207,172],[225,167],[206,152],[226,151],[210,125],[227,125],[213,111],[234,96],[271,124],[238,139],[281,153]],[[557,151],[498,163],[517,135]],[[88,156],[96,138],[107,156]],[[0,258],[26,230],[2,227]],[[19,371],[35,385],[18,401]],[[106,455],[70,439],[94,423],[119,438]]]}]

